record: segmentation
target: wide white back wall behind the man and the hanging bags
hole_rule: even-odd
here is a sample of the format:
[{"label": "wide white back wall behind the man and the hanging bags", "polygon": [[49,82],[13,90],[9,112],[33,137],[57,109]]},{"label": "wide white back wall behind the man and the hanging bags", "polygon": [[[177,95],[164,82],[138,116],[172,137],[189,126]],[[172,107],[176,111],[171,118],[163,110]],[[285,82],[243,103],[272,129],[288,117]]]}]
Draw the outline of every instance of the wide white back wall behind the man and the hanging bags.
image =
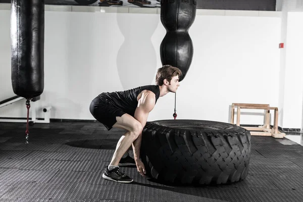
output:
[{"label": "wide white back wall behind the man and the hanging bags", "polygon": [[[14,95],[10,11],[0,18],[3,100]],[[193,61],[177,92],[178,119],[228,122],[232,103],[278,106],[280,24],[278,17],[197,15],[189,31]],[[53,106],[51,118],[93,119],[88,107],[98,93],[154,84],[165,33],[157,14],[46,12],[41,107]],[[173,113],[171,93],[148,121]],[[25,104],[1,108],[0,116],[26,117]],[[263,117],[241,118],[241,124],[262,123]]]}]

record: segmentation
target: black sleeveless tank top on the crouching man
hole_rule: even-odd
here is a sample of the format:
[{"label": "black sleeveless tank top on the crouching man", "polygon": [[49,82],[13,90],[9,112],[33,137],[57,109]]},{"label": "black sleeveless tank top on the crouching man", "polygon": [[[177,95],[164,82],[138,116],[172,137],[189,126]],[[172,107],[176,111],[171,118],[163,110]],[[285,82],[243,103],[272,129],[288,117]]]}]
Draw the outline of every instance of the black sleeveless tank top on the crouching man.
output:
[{"label": "black sleeveless tank top on the crouching man", "polygon": [[[138,106],[137,96],[142,90],[150,90],[156,95],[156,103],[160,96],[160,87],[159,85],[145,85],[139,86],[133,89],[125,91],[116,91],[116,92],[103,92],[98,95],[100,99],[106,99],[115,107],[121,109],[127,114],[134,116],[135,110]],[[155,103],[155,104],[156,104]]]}]

